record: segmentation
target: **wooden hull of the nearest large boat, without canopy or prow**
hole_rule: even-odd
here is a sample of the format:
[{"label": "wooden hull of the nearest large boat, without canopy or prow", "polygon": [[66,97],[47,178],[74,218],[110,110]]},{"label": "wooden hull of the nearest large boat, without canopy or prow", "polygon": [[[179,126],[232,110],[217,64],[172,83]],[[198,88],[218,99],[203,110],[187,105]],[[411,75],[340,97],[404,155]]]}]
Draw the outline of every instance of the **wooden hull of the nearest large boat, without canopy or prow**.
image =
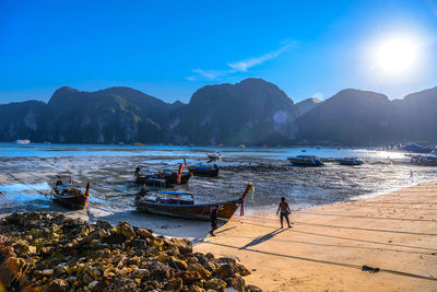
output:
[{"label": "wooden hull of the nearest large boat, without canopy or prow", "polygon": [[149,201],[135,200],[137,210],[161,215],[169,215],[175,218],[210,220],[211,208],[218,206],[217,220],[229,220],[240,205],[240,200],[225,201],[217,203],[196,203],[196,205],[167,205],[155,203]]}]

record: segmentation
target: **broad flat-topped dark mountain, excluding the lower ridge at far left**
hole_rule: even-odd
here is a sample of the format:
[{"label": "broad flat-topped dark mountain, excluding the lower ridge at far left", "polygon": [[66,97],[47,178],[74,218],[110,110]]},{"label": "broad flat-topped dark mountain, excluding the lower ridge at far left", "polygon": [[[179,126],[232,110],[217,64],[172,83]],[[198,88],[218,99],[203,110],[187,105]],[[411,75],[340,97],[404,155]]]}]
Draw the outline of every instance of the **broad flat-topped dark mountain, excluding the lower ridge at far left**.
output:
[{"label": "broad flat-topped dark mountain, excluding the lower ridge at far left", "polygon": [[47,104],[48,141],[161,142],[169,105],[129,87],[80,92],[61,87]]}]

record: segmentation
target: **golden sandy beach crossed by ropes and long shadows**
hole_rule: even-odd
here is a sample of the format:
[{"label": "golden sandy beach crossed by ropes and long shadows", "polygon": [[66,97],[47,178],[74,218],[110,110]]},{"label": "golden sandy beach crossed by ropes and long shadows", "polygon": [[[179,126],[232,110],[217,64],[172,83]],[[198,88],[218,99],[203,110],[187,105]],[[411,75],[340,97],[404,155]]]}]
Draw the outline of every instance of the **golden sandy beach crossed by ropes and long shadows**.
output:
[{"label": "golden sandy beach crossed by ropes and long shadows", "polygon": [[291,229],[247,213],[194,249],[239,259],[264,291],[437,291],[436,203],[428,182],[294,212]]}]

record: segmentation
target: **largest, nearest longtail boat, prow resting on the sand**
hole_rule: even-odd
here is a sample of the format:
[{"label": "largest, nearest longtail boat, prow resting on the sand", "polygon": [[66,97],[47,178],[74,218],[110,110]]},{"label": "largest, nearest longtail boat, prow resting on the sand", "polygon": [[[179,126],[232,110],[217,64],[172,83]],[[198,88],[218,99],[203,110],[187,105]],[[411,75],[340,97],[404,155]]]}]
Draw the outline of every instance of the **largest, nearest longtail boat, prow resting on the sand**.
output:
[{"label": "largest, nearest longtail boat, prow resting on the sand", "polygon": [[235,200],[205,203],[196,203],[194,196],[189,192],[140,191],[135,197],[135,206],[138,211],[194,220],[210,220],[211,209],[217,207],[217,219],[227,221],[238,207],[244,208],[245,198],[251,188],[252,184],[248,184],[241,197]]}]

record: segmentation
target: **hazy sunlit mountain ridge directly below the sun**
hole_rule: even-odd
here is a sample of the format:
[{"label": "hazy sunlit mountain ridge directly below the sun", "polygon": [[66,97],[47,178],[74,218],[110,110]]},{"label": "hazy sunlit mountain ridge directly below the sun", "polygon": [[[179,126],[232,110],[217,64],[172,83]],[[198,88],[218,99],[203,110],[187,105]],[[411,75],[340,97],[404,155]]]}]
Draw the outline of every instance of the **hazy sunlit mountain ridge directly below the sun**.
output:
[{"label": "hazy sunlit mountain ridge directly below the sun", "polygon": [[297,141],[376,145],[437,141],[437,87],[389,101],[386,95],[343,90],[296,120]]}]

